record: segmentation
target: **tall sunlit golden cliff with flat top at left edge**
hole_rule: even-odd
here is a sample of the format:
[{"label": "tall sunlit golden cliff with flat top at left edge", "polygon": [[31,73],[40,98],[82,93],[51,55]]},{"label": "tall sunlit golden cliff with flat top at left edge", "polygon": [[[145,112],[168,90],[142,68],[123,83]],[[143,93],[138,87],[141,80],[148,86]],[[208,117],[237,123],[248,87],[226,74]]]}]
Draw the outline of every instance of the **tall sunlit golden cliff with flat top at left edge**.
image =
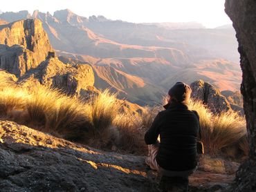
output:
[{"label": "tall sunlit golden cliff with flat top at left edge", "polygon": [[17,77],[39,66],[54,52],[42,22],[38,19],[0,26],[0,44],[0,68]]}]

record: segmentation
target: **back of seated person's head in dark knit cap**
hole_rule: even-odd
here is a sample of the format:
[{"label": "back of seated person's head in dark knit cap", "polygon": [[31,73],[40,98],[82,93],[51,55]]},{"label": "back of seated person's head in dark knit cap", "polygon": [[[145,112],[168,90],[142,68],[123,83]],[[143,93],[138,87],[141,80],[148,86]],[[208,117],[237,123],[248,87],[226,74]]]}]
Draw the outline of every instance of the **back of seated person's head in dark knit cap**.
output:
[{"label": "back of seated person's head in dark knit cap", "polygon": [[188,104],[191,95],[191,88],[187,84],[183,82],[177,82],[170,90],[168,94],[170,95],[171,99],[175,102]]}]

